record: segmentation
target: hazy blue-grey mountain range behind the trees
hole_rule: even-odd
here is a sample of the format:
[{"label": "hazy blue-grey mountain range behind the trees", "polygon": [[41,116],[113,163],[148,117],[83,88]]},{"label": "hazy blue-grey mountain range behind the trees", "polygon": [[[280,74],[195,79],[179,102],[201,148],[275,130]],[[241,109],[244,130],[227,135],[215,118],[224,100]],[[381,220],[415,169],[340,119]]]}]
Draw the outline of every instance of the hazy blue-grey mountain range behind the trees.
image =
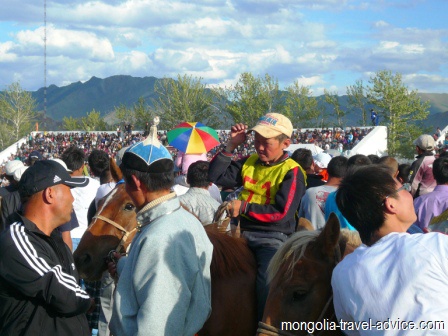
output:
[{"label": "hazy blue-grey mountain range behind the trees", "polygon": [[[123,104],[129,108],[139,98],[151,104],[157,98],[154,92],[156,77],[132,77],[125,75],[108,78],[92,77],[82,83],[76,82],[67,86],[50,85],[47,88],[46,124],[47,129],[60,129],[64,117],[80,118],[93,109],[101,113],[106,120],[114,108]],[[31,92],[36,100],[38,111],[44,111],[45,89]],[[424,126],[443,129],[448,125],[448,94],[419,93],[422,101],[429,100],[430,115],[423,122]],[[347,96],[340,96],[341,108],[347,110]],[[110,119],[110,118],[109,118]],[[357,125],[359,115],[347,114],[346,125]],[[52,126],[49,126],[52,125]],[[226,125],[227,126],[227,125]]]}]

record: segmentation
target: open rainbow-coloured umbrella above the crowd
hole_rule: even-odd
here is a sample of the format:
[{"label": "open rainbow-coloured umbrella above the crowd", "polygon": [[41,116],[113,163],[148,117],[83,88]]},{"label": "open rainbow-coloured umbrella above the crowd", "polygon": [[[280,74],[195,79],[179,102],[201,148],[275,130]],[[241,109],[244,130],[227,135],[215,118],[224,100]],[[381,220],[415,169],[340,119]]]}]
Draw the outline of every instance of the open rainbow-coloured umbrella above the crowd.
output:
[{"label": "open rainbow-coloured umbrella above the crowd", "polygon": [[207,153],[220,144],[218,133],[200,122],[183,122],[167,133],[168,143],[185,154]]}]

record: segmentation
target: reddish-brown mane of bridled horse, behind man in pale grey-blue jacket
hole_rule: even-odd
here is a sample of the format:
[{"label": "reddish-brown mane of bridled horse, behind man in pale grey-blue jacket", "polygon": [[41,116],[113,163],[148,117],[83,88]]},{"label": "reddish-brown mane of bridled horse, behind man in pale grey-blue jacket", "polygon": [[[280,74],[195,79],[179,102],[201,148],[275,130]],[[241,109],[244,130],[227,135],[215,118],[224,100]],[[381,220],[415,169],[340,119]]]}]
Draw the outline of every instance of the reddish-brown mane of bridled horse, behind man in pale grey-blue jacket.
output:
[{"label": "reddish-brown mane of bridled horse, behind man in pale grey-blue jacket", "polygon": [[257,265],[252,251],[242,238],[235,238],[206,228],[213,244],[213,258],[210,265],[212,277],[223,278],[241,273],[254,273]]}]

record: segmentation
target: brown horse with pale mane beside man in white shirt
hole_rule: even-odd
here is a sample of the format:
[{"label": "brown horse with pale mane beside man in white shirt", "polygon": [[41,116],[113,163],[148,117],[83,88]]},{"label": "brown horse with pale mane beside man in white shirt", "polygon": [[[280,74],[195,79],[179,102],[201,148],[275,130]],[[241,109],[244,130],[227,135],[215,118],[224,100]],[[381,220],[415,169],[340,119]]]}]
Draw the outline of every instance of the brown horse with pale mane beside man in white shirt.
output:
[{"label": "brown horse with pale mane beside man in white shirt", "polygon": [[270,291],[258,335],[343,335],[336,327],[331,275],[360,244],[357,232],[341,234],[333,213],[320,233],[292,235],[269,264]]}]

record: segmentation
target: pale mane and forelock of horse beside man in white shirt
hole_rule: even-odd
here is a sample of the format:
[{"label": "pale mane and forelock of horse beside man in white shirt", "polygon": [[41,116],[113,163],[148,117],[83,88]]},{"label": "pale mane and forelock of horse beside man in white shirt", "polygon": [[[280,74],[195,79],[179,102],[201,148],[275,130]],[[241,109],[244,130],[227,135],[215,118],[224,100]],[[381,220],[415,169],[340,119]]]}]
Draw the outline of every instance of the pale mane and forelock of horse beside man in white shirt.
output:
[{"label": "pale mane and forelock of horse beside man in white shirt", "polygon": [[[304,256],[308,245],[314,242],[320,231],[298,231],[294,233],[286,243],[277,251],[268,266],[268,281],[274,279],[277,272],[285,262],[289,262],[285,276],[292,274],[294,265]],[[353,248],[361,245],[358,231],[342,229],[339,236],[339,248],[342,254],[347,245]]]}]

